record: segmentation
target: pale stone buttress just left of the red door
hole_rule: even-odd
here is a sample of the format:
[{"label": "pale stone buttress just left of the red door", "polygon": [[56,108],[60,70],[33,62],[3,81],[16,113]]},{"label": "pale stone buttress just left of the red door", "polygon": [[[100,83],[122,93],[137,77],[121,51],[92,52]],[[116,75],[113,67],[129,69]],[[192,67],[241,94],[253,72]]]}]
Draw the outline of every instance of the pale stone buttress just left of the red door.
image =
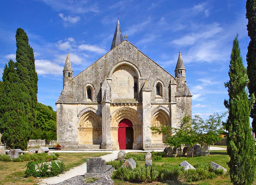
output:
[{"label": "pale stone buttress just left of the red door", "polygon": [[110,122],[110,103],[102,102],[102,143],[101,149],[112,150],[111,144],[111,122]]}]

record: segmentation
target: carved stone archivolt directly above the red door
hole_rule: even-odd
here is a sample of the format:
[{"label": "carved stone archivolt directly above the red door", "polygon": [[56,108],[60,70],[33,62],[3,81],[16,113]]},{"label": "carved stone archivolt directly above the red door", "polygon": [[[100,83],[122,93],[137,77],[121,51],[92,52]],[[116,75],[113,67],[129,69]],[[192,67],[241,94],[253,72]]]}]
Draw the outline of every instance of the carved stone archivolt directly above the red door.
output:
[{"label": "carved stone archivolt directly above the red door", "polygon": [[122,119],[128,119],[132,121],[134,127],[142,125],[141,114],[135,109],[129,108],[129,107],[123,107],[116,110],[111,115],[110,119],[111,119],[111,126],[116,128],[118,128],[118,124]]}]

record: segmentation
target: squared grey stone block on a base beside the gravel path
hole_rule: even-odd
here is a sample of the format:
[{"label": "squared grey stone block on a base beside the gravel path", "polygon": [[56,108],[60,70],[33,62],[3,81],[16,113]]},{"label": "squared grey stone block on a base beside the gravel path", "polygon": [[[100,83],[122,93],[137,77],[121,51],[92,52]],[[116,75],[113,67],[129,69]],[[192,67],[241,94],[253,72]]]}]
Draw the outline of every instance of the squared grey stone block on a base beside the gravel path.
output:
[{"label": "squared grey stone block on a base beside the gravel path", "polygon": [[106,160],[101,157],[90,157],[86,161],[87,173],[105,173]]}]

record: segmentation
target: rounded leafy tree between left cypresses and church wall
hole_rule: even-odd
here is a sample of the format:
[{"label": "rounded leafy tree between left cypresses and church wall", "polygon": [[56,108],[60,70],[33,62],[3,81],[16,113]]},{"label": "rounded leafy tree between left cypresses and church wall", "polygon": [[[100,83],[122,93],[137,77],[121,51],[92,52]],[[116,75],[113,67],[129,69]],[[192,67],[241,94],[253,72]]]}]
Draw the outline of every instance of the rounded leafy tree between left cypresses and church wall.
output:
[{"label": "rounded leafy tree between left cypresses and church wall", "polygon": [[33,139],[56,140],[56,112],[51,106],[37,103]]}]

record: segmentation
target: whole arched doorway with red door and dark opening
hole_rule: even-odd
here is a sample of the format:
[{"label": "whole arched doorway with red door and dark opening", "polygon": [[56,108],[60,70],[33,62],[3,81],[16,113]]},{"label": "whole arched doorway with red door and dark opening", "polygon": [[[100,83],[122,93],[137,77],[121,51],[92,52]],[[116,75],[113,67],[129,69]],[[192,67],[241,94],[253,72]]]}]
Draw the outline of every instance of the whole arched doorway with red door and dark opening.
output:
[{"label": "whole arched doorway with red door and dark opening", "polygon": [[123,119],[118,124],[119,149],[133,149],[133,123],[128,119]]}]

